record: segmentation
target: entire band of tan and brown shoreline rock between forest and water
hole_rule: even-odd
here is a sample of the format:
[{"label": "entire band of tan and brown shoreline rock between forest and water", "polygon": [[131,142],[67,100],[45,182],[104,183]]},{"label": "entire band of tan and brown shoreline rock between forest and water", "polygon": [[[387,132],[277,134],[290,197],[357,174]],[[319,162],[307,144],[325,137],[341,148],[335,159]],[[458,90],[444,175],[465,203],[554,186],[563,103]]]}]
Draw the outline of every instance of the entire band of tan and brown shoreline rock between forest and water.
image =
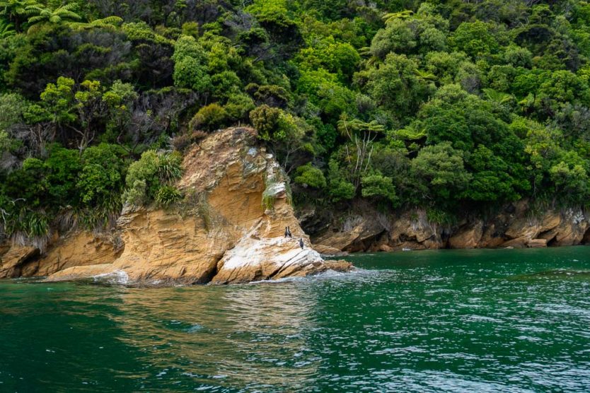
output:
[{"label": "entire band of tan and brown shoreline rock between forest and water", "polygon": [[[178,206],[125,206],[109,233],[54,233],[46,250],[1,243],[0,278],[247,283],[349,271],[352,264],[324,259],[349,252],[590,244],[590,212],[539,213],[526,200],[453,225],[432,223],[419,209],[385,215],[360,203],[328,219],[318,218],[313,207],[295,213],[286,175],[245,127],[218,131],[192,146],[183,169],[177,187],[185,200]],[[293,238],[284,237],[287,226]]]}]

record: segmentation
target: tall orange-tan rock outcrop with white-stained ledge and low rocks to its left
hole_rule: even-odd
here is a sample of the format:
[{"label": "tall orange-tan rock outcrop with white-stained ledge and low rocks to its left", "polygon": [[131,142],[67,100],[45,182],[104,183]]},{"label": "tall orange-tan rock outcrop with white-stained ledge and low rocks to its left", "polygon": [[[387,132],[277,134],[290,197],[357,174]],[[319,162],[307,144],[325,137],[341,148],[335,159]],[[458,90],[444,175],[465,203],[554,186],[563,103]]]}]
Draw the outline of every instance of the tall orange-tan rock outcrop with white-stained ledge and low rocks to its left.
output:
[{"label": "tall orange-tan rock outcrop with white-stained ledge and low rocks to its left", "polygon": [[[311,248],[276,160],[248,128],[219,131],[187,152],[180,206],[126,206],[109,235],[69,233],[47,252],[0,247],[0,278],[101,278],[129,284],[243,283],[352,268]],[[293,238],[284,237],[289,226]],[[303,249],[299,247],[303,240]]]}]

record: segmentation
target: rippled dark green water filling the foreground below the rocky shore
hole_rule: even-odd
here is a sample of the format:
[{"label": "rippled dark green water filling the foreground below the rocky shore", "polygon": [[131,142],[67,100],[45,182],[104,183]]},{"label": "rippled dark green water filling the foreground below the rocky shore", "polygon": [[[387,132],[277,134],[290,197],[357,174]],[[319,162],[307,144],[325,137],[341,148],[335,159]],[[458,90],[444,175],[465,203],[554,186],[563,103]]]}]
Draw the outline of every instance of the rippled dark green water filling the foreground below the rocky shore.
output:
[{"label": "rippled dark green water filling the foreground below the rocky shore", "polygon": [[590,247],[278,284],[0,281],[0,392],[590,392]]}]

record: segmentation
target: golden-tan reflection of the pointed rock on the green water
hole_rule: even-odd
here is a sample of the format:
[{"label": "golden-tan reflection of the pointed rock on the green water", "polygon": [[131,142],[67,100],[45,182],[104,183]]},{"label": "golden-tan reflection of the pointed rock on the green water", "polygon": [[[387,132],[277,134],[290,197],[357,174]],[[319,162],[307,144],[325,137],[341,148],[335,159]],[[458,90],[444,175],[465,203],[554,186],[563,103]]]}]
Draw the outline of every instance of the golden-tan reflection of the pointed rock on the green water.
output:
[{"label": "golden-tan reflection of the pointed rock on the green water", "polygon": [[156,379],[303,389],[318,365],[306,334],[317,299],[304,288],[129,288],[111,317]]}]

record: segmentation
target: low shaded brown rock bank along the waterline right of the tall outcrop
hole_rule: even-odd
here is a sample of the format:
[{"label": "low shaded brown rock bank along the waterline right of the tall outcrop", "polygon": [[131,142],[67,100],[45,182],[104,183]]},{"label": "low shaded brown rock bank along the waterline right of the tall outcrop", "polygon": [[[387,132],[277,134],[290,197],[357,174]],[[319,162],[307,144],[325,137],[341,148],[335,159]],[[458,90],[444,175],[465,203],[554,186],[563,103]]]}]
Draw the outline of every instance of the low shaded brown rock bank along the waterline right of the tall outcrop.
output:
[{"label": "low shaded brown rock bank along the waterline right of the tall outcrop", "polygon": [[333,216],[323,226],[313,221],[313,209],[303,209],[299,216],[303,228],[313,233],[316,250],[325,254],[590,244],[589,211],[544,209],[539,213],[528,201],[485,216],[465,214],[461,222],[452,225],[432,223],[422,210],[385,215],[366,204]]}]

